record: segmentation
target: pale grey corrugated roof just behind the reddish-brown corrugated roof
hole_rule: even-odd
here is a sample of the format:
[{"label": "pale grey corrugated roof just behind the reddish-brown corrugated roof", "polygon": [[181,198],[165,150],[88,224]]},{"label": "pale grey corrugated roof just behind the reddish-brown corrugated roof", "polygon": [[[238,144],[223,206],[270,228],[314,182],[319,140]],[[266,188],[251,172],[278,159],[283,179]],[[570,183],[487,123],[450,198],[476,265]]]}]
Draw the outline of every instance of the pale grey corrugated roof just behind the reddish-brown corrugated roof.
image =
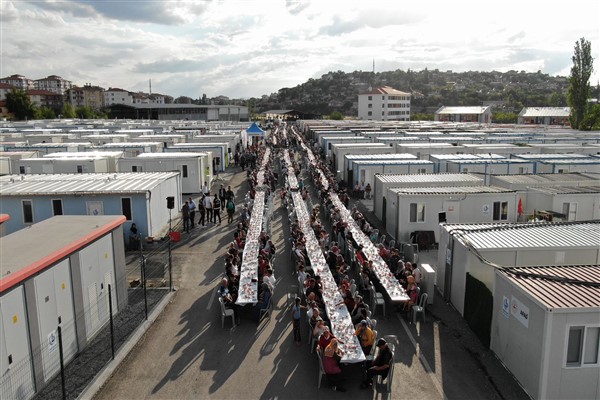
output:
[{"label": "pale grey corrugated roof just behind the reddish-brown corrugated roof", "polygon": [[[448,229],[448,228],[446,228]],[[450,227],[456,232],[456,227]],[[462,226],[459,237],[476,249],[600,247],[600,220],[566,223],[508,224],[492,228]]]}]

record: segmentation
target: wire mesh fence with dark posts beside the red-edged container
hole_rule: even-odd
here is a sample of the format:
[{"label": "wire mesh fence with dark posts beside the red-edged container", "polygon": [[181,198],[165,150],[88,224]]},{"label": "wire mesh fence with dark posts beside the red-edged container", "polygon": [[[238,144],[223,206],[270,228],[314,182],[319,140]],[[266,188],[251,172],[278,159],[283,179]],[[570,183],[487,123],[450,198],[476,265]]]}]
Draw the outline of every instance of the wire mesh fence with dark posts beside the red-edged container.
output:
[{"label": "wire mesh fence with dark posts beside the red-edged container", "polygon": [[[85,390],[173,287],[170,241],[140,250],[132,258],[127,265],[127,306],[116,310],[115,290],[109,285],[95,304],[59,324],[53,336],[32,348],[32,357],[0,379],[0,398],[30,399],[35,394],[35,399],[71,399]],[[82,340],[77,338],[75,320],[85,320],[91,327],[91,341],[83,349],[78,349]]]}]

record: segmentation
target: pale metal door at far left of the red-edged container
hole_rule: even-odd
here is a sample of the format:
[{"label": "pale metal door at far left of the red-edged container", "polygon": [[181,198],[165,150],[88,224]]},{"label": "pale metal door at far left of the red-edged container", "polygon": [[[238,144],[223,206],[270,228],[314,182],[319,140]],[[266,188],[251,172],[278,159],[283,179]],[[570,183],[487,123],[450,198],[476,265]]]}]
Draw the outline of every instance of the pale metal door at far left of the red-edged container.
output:
[{"label": "pale metal door at far left of the red-edged container", "polygon": [[33,397],[33,370],[23,287],[0,298],[0,398]]}]

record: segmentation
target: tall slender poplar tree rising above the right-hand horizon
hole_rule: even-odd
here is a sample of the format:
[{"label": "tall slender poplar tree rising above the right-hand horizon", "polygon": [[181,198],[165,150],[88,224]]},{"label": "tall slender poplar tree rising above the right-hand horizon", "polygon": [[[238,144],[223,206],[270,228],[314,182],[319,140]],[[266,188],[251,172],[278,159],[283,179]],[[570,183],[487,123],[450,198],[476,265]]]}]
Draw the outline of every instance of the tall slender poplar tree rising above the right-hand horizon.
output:
[{"label": "tall slender poplar tree rising above the right-hand horizon", "polygon": [[569,75],[567,102],[571,107],[569,120],[573,129],[580,129],[590,98],[590,76],[594,71],[592,45],[585,38],[575,43],[575,53],[571,58],[573,66]]}]

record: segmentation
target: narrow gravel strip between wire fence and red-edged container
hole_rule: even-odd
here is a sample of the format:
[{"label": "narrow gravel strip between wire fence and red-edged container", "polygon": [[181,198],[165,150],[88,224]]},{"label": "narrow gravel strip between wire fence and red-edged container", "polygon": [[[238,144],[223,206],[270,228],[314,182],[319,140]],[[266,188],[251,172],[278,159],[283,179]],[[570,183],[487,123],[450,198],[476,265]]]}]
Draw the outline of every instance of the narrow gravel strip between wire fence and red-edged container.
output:
[{"label": "narrow gravel strip between wire fence and red-edged container", "polygon": [[[169,293],[168,288],[146,290],[148,296],[148,313],[160,300]],[[126,342],[135,329],[145,321],[144,299],[139,290],[129,289],[128,306],[115,316],[115,352]],[[141,300],[141,301],[140,301]],[[94,338],[88,347],[77,355],[65,368],[65,386],[68,399],[77,398],[92,379],[104,368],[112,358],[110,344],[110,324],[107,324]],[[61,378],[58,374],[40,390],[34,399],[62,398]]]}]

